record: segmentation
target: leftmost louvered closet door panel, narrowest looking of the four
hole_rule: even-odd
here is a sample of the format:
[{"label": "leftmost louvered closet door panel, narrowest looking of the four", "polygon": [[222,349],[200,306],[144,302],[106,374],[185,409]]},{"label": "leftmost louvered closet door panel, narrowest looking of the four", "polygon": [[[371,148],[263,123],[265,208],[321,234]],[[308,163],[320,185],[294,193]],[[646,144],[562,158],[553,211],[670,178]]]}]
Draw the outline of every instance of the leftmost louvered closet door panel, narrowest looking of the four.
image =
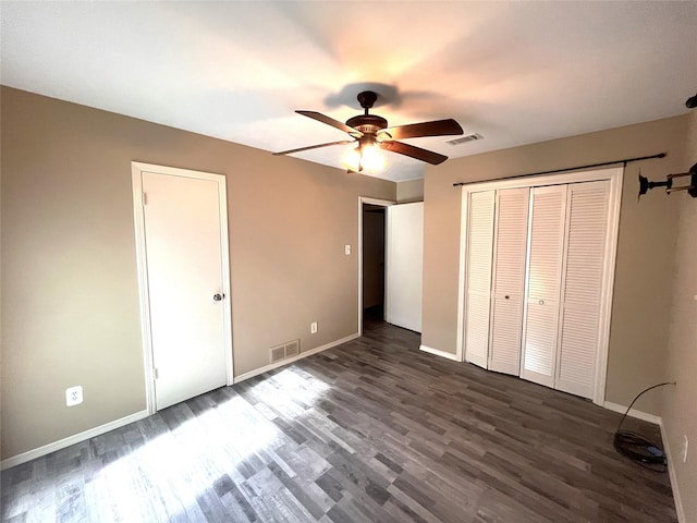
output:
[{"label": "leftmost louvered closet door panel, narrowest looking of the four", "polygon": [[487,368],[494,191],[472,193],[467,215],[465,360]]}]

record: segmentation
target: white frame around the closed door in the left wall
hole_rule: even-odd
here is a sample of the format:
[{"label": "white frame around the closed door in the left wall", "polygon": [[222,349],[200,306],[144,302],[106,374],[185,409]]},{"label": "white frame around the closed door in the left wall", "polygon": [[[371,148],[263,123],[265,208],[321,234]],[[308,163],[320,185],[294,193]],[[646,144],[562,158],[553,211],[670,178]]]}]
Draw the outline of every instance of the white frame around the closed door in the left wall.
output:
[{"label": "white frame around the closed door in the left wall", "polygon": [[220,211],[220,254],[222,256],[222,291],[228,300],[222,300],[223,330],[225,348],[225,381],[233,384],[233,354],[232,354],[232,305],[230,293],[230,247],[228,236],[228,193],[225,177],[209,172],[179,169],[175,167],[157,166],[154,163],[131,162],[133,181],[133,216],[135,224],[135,247],[138,272],[138,293],[140,297],[140,336],[143,343],[143,365],[145,378],[145,402],[148,414],[157,412],[155,401],[155,372],[152,357],[152,331],[150,324],[150,297],[148,293],[147,251],[145,238],[145,212],[143,208],[143,173],[152,172],[169,177],[193,178],[196,180],[212,181],[218,184],[219,211]]}]

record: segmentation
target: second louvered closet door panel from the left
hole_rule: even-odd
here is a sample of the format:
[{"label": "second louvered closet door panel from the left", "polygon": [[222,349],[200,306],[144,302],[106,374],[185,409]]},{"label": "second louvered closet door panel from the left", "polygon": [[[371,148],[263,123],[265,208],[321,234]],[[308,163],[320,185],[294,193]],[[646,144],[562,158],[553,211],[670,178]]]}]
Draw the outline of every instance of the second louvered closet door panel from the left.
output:
[{"label": "second louvered closet door panel from the left", "polygon": [[489,369],[518,376],[529,187],[497,192]]}]

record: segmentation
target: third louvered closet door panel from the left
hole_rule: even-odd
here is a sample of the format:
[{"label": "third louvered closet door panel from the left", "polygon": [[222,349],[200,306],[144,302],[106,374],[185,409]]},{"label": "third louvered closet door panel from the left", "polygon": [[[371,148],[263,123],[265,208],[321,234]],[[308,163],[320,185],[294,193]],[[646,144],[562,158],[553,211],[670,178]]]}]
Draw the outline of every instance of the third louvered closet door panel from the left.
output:
[{"label": "third louvered closet door panel from the left", "polygon": [[530,192],[528,280],[521,377],[554,387],[566,185]]}]

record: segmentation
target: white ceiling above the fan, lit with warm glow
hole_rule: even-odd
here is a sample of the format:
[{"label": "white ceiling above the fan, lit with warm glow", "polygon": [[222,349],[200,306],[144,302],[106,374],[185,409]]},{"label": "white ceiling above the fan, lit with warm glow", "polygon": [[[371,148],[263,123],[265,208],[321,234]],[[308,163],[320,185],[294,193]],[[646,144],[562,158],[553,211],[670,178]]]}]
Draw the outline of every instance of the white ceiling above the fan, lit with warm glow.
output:
[{"label": "white ceiling above the fan, lit with warm glow", "polygon": [[[687,111],[697,1],[0,3],[4,85],[269,151],[334,142],[372,87],[390,125],[454,118],[452,157]],[[298,154],[339,167],[346,147]],[[423,163],[386,153],[393,181]]]}]

